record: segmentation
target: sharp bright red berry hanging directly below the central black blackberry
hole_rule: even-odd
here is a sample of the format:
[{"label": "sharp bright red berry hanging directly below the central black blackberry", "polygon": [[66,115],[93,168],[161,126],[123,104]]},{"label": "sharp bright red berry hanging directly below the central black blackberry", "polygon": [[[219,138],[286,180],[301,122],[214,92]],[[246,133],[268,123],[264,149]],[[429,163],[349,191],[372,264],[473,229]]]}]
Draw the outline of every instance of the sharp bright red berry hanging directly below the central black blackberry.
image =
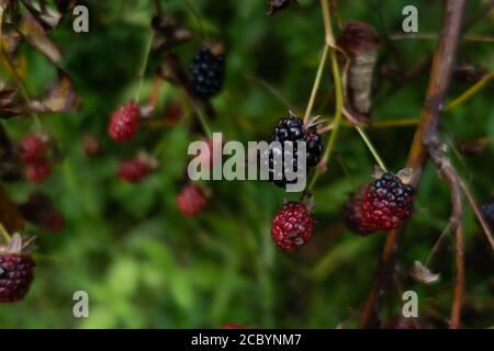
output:
[{"label": "sharp bright red berry hanging directly below the central black blackberry", "polygon": [[289,202],[274,215],[271,237],[282,250],[293,252],[311,239],[314,229],[315,223],[307,206]]}]

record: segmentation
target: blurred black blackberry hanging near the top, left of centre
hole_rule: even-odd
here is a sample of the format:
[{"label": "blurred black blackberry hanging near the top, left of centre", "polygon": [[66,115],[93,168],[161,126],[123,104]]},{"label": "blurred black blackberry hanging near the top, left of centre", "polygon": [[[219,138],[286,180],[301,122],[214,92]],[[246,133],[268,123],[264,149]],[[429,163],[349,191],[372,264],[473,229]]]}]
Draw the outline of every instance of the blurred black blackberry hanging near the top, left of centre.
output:
[{"label": "blurred black blackberry hanging near the top, left of centre", "polygon": [[201,99],[210,99],[223,88],[225,79],[225,58],[211,48],[202,47],[189,66],[192,93]]}]

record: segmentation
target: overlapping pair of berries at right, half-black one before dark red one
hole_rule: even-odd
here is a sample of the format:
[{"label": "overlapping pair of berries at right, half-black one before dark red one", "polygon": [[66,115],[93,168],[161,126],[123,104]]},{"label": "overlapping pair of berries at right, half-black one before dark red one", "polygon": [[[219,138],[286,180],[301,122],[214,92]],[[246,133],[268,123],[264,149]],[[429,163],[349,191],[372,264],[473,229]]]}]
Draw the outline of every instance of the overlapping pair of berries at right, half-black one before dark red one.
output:
[{"label": "overlapping pair of berries at right, half-black one before dark red one", "polygon": [[344,208],[349,229],[368,235],[397,228],[413,210],[414,189],[391,173],[383,173],[353,194]]}]

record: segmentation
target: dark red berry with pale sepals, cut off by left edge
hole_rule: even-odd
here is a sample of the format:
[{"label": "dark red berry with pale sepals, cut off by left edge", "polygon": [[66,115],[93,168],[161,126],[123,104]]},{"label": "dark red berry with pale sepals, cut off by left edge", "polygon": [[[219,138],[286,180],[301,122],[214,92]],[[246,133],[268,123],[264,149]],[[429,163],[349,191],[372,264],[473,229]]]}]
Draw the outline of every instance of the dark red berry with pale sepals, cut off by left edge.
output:
[{"label": "dark red berry with pale sepals, cut off by left edge", "polygon": [[35,264],[22,249],[19,235],[14,235],[8,246],[0,248],[0,303],[23,299],[34,280]]}]

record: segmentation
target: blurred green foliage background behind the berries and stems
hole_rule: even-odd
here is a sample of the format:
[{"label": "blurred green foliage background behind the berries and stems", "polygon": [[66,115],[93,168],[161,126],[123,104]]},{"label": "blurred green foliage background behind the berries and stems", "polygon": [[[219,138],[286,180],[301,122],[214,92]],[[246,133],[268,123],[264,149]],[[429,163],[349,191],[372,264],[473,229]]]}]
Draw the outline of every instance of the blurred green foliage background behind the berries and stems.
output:
[{"label": "blurred green foliage background behind the berries and stems", "polygon": [[[191,0],[212,37],[228,49],[225,90],[213,100],[217,117],[213,131],[240,141],[266,139],[288,106],[266,84],[278,91],[302,114],[308,100],[318,53],[324,43],[318,1],[267,16],[266,0]],[[344,21],[367,21],[384,37],[401,32],[402,9],[415,4],[419,31],[438,33],[442,1],[337,1]],[[217,328],[238,322],[261,328],[356,327],[379,262],[384,234],[366,238],[352,235],[343,224],[340,208],[353,186],[370,180],[373,159],[358,134],[344,127],[327,173],[315,188],[314,216],[317,231],[312,241],[293,254],[281,252],[270,238],[270,224],[283,201],[295,200],[265,182],[210,182],[213,196],[203,213],[184,218],[176,206],[189,160],[187,147],[201,137],[190,132],[191,121],[165,128],[143,128],[136,139],[115,145],[106,135],[111,112],[132,99],[137,80],[151,1],[79,1],[90,11],[90,33],[75,34],[71,15],[54,31],[63,47],[63,67],[82,99],[74,114],[43,117],[44,128],[57,141],[64,158],[54,174],[41,185],[5,183],[16,202],[33,190],[50,194],[66,217],[59,234],[29,226],[36,235],[36,280],[22,303],[0,306],[0,328]],[[482,1],[468,1],[467,18]],[[181,0],[161,1],[165,13],[199,32],[194,18]],[[494,34],[494,16],[484,16],[469,35]],[[393,92],[390,71],[412,70],[434,52],[434,39],[393,42],[400,61],[384,41],[380,48],[373,106],[375,121],[419,116],[428,69]],[[186,63],[200,47],[199,39],[177,49]],[[29,46],[26,86],[34,94],[53,81],[56,71]],[[147,97],[161,56],[151,53],[145,80]],[[458,63],[494,69],[494,44],[462,41]],[[449,100],[472,82],[454,79]],[[328,70],[316,100],[315,114],[332,117],[333,84]],[[494,136],[493,86],[445,115],[444,139],[457,145]],[[392,93],[393,92],[393,93]],[[154,118],[177,101],[180,90],[166,84]],[[2,122],[12,138],[20,140],[35,126],[31,118]],[[404,167],[414,126],[369,128],[370,138],[388,167]],[[81,150],[85,134],[97,136],[103,147],[98,158]],[[120,181],[119,161],[136,150],[153,152],[161,167],[138,185]],[[480,201],[494,185],[494,144],[476,154],[451,154],[461,174]],[[461,158],[459,158],[460,156]],[[344,171],[344,167],[347,172]],[[353,185],[352,185],[353,184]],[[467,291],[465,327],[494,324],[493,254],[469,206],[464,218]],[[424,173],[416,212],[409,223],[397,278],[403,290],[419,296],[420,324],[445,327],[449,318],[454,278],[453,241],[449,238],[434,258],[439,284],[420,285],[408,276],[414,260],[425,261],[447,225],[450,199],[434,168]],[[90,296],[90,317],[72,316],[72,294]],[[395,318],[402,308],[398,291],[392,287],[382,319]],[[340,325],[343,324],[343,325]]]}]

